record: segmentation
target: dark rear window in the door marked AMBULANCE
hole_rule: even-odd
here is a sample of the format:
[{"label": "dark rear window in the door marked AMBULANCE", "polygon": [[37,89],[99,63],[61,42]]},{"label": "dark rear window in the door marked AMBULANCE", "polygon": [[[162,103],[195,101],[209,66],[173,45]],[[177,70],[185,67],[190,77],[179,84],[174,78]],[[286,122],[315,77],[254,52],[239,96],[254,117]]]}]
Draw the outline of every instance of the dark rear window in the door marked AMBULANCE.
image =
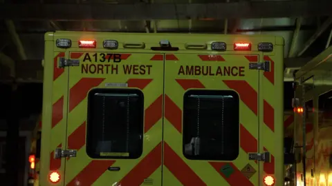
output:
[{"label": "dark rear window in the door marked AMBULANCE", "polygon": [[183,154],[188,159],[232,161],[239,155],[239,95],[190,90],[183,101]]}]

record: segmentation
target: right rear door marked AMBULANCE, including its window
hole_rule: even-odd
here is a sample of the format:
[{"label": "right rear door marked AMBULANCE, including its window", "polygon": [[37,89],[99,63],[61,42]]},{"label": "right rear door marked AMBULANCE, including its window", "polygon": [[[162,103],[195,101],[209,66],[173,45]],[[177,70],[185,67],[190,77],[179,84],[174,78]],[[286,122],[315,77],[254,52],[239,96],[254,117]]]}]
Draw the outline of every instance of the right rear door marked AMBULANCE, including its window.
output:
[{"label": "right rear door marked AMBULANCE, including its window", "polygon": [[[167,57],[168,56],[168,57]],[[166,54],[163,185],[259,185],[261,53]]]}]

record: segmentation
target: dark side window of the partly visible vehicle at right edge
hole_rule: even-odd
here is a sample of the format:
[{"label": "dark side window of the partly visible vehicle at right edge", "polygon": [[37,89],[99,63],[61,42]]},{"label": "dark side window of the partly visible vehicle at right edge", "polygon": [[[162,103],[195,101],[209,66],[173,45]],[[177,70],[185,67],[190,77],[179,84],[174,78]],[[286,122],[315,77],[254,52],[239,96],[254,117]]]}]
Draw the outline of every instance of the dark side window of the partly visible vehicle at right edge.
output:
[{"label": "dark side window of the partly visible vehicle at right edge", "polygon": [[332,90],[318,97],[318,127],[332,125]]}]

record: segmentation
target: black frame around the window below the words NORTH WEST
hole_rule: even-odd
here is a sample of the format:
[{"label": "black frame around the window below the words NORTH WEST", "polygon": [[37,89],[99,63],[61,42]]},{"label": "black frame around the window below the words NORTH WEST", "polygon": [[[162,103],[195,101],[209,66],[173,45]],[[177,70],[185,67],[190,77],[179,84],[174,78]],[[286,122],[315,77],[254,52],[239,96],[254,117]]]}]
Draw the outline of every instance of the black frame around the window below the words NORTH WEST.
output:
[{"label": "black frame around the window below the words NORTH WEST", "polygon": [[[93,99],[91,99],[91,97],[95,96],[95,93],[108,93],[108,94],[138,94],[138,100],[139,100],[139,104],[140,104],[140,110],[139,108],[136,109],[136,111],[140,112],[140,122],[135,121],[136,125],[140,124],[140,133],[142,138],[140,139],[140,152],[138,153],[138,156],[95,156],[95,154],[89,152],[90,150],[90,145],[89,145],[89,141],[93,140],[91,139],[91,133],[93,131],[91,131],[91,124],[94,125],[93,123],[91,123],[91,118],[92,118],[92,106],[93,106]],[[86,111],[86,155],[89,156],[90,158],[93,159],[138,159],[142,156],[143,154],[143,143],[144,143],[144,124],[145,124],[145,119],[144,119],[144,114],[145,114],[145,97],[144,97],[144,93],[142,92],[142,90],[139,90],[138,88],[107,88],[107,87],[96,87],[93,88],[92,90],[89,91],[88,95],[87,95],[87,111]],[[93,126],[92,126],[93,127]],[[92,142],[92,141],[91,141]],[[92,145],[93,146],[93,145]],[[93,147],[92,147],[93,149]],[[114,153],[118,153],[118,152],[114,152]],[[93,155],[93,156],[91,156]]]}]

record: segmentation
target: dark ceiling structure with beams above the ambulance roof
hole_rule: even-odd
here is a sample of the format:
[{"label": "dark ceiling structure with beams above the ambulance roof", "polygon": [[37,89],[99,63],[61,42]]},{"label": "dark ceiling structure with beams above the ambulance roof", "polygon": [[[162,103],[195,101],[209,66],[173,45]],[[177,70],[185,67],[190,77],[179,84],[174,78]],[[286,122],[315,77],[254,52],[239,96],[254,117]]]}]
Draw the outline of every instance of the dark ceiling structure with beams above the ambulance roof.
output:
[{"label": "dark ceiling structure with beams above the ambulance roof", "polygon": [[331,0],[0,0],[0,80],[42,82],[54,30],[269,34],[285,39],[285,81],[330,45]]}]

